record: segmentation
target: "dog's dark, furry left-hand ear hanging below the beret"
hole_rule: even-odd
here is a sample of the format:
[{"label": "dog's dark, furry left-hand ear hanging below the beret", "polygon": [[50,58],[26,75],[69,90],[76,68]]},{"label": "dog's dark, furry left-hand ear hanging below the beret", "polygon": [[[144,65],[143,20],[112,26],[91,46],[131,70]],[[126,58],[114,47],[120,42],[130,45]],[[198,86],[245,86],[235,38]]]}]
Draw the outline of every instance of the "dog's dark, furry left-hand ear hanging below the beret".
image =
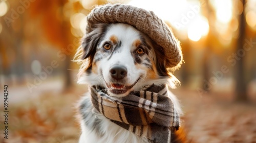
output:
[{"label": "dog's dark, furry left-hand ear hanging below the beret", "polygon": [[96,50],[97,50],[97,44],[102,37],[102,35],[105,33],[106,30],[106,24],[98,24],[95,26],[95,28],[88,33],[82,41],[82,48],[83,48],[83,56],[82,59],[93,59]]}]

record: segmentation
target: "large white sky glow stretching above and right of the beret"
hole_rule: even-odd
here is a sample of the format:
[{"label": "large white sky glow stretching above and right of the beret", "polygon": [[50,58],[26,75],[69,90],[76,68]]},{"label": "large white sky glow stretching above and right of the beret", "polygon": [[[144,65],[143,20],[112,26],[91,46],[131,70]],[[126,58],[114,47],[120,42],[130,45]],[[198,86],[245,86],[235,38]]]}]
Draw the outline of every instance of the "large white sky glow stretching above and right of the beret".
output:
[{"label": "large white sky glow stretching above and right of the beret", "polygon": [[[208,34],[208,20],[201,14],[201,3],[199,1],[173,0],[168,1],[168,4],[165,3],[164,0],[158,0],[157,2],[153,0],[132,0],[129,4],[154,11],[164,21],[168,21],[173,28],[185,32],[188,38],[193,41],[198,41]],[[227,16],[230,16],[230,14],[227,14]]]}]

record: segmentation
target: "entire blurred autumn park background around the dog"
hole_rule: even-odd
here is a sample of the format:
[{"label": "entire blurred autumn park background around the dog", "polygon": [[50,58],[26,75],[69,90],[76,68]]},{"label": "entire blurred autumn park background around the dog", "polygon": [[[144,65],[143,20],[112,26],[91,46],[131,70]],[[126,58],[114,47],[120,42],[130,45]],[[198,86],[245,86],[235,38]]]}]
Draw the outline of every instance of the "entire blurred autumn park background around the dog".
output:
[{"label": "entire blurred autumn park background around the dog", "polygon": [[1,0],[0,92],[8,85],[9,139],[1,115],[0,142],[77,142],[75,106],[87,86],[76,84],[72,59],[86,16],[107,3],[154,11],[181,41],[184,63],[174,73],[181,86],[172,91],[188,140],[256,140],[255,0]]}]

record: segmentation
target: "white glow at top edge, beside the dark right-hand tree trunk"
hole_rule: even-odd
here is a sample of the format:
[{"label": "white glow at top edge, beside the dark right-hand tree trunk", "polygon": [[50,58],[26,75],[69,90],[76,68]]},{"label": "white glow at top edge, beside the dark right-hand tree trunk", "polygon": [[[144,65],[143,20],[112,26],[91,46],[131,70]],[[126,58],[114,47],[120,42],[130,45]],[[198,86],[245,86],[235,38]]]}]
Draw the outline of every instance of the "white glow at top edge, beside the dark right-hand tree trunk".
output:
[{"label": "white glow at top edge, beside the dark right-hand tree trunk", "polygon": [[216,16],[220,22],[228,23],[232,18],[232,1],[231,0],[216,0],[211,1],[211,4],[216,9]]}]

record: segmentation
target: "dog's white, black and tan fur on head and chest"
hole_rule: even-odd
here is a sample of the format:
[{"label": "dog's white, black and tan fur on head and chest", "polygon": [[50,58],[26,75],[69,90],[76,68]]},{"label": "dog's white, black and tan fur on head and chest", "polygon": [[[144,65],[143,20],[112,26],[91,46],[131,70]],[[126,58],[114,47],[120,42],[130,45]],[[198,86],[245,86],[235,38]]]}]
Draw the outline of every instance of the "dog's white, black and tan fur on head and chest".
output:
[{"label": "dog's white, black and tan fur on head and chest", "polygon": [[[162,47],[136,28],[124,23],[101,23],[83,38],[76,57],[81,63],[78,83],[100,85],[108,89],[110,96],[120,98],[145,85],[167,84],[175,87],[178,80],[165,66]],[[113,77],[111,69],[123,67],[123,77]],[[181,113],[176,97],[169,92],[174,106]],[[112,123],[92,105],[89,93],[79,103],[82,133],[79,139],[84,142],[150,142]],[[174,134],[172,141],[180,140]]]}]

